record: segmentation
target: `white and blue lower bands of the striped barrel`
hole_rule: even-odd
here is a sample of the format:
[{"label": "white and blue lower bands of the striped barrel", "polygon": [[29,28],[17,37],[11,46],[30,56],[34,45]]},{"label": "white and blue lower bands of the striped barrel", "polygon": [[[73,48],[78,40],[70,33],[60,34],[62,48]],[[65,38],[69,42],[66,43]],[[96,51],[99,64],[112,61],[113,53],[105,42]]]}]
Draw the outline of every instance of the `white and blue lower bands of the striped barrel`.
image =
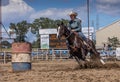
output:
[{"label": "white and blue lower bands of the striped barrel", "polygon": [[12,68],[13,71],[31,70],[30,54],[23,53],[12,54]]}]

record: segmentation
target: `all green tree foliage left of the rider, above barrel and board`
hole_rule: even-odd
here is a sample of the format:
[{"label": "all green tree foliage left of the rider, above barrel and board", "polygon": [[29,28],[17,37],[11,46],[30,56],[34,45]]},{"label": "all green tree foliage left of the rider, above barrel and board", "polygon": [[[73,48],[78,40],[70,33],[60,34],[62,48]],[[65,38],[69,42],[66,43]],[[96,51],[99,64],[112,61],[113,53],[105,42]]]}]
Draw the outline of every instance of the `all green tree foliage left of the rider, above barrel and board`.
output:
[{"label": "all green tree foliage left of the rider, above barrel and board", "polygon": [[61,23],[61,21],[66,25],[68,23],[68,20],[66,19],[53,20],[50,18],[40,17],[35,19],[32,23],[27,23],[27,21],[21,21],[17,24],[10,23],[9,28],[16,34],[15,42],[25,42],[26,34],[30,29],[37,38],[37,40],[33,42],[33,47],[40,47],[39,29],[57,28],[57,24]]}]

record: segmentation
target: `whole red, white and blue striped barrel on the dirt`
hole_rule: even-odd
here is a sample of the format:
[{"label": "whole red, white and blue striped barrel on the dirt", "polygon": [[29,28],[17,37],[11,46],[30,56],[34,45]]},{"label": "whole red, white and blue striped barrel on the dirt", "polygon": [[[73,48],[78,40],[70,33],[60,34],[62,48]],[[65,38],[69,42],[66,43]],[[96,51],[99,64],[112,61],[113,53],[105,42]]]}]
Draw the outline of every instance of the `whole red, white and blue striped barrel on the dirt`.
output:
[{"label": "whole red, white and blue striped barrel on the dirt", "polygon": [[31,44],[28,42],[12,43],[12,69],[16,71],[31,70]]}]

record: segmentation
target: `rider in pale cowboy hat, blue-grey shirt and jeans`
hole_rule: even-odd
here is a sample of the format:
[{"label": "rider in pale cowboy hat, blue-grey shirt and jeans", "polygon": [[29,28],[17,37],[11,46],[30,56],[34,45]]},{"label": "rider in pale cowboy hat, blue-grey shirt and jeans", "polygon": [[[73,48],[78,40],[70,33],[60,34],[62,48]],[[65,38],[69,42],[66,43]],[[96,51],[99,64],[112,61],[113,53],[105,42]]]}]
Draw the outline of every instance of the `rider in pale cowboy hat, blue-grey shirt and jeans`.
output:
[{"label": "rider in pale cowboy hat, blue-grey shirt and jeans", "polygon": [[[78,35],[85,41],[85,43],[87,44],[87,38],[85,37],[85,35],[82,33],[82,26],[81,26],[81,20],[77,18],[77,13],[76,12],[73,12],[71,11],[69,13],[69,16],[70,16],[70,21],[68,23],[68,29],[73,31],[73,32],[77,32]],[[69,44],[67,42],[67,47],[69,49]],[[72,55],[70,54],[70,57],[71,58]]]}]

